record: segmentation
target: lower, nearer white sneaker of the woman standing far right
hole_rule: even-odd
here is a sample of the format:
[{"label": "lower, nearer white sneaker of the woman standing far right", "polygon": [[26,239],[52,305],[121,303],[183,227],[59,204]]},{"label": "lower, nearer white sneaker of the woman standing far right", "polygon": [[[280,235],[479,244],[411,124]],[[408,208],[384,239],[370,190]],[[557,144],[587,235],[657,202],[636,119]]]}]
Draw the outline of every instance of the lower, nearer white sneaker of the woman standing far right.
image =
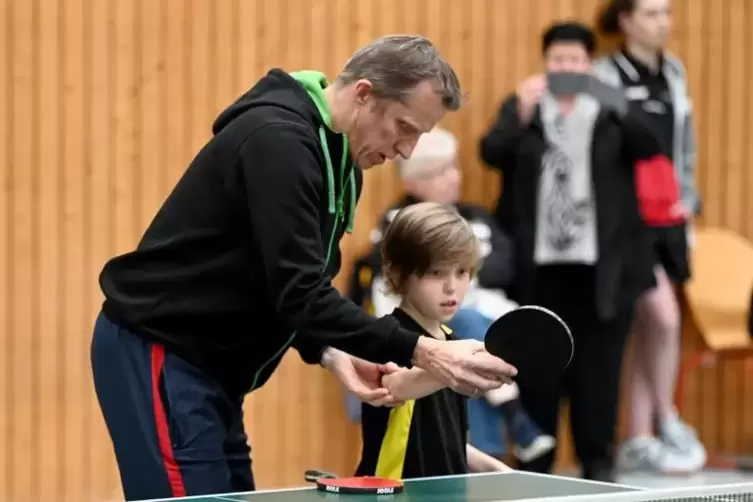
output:
[{"label": "lower, nearer white sneaker of the woman standing far right", "polygon": [[655,437],[626,441],[617,454],[617,465],[625,472],[651,472],[666,475],[692,474],[705,462],[664,444]]}]

